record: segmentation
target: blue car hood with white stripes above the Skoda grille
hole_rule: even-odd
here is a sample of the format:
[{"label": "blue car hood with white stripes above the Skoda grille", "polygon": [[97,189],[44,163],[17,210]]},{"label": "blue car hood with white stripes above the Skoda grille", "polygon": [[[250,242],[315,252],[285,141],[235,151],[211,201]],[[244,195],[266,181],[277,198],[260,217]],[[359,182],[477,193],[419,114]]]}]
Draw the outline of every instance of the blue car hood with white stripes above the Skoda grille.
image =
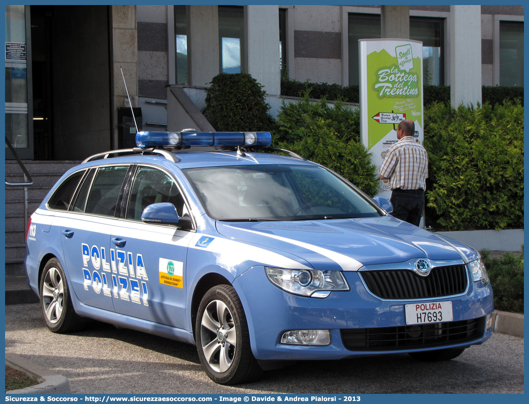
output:
[{"label": "blue car hood with white stripes above the Skoda grille", "polygon": [[236,240],[286,251],[314,267],[358,270],[364,265],[476,260],[471,247],[394,217],[293,222],[216,222],[217,231]]}]

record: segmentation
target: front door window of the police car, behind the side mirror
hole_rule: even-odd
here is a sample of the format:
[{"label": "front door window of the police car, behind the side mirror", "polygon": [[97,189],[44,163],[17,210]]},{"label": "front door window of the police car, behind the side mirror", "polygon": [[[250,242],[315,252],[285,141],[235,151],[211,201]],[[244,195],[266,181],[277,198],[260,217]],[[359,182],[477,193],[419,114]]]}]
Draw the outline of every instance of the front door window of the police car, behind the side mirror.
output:
[{"label": "front door window of the police car, behind the side mirror", "polygon": [[176,182],[165,172],[156,168],[138,168],[127,204],[126,218],[141,221],[143,209],[161,202],[175,205],[178,216],[184,216],[184,198]]}]

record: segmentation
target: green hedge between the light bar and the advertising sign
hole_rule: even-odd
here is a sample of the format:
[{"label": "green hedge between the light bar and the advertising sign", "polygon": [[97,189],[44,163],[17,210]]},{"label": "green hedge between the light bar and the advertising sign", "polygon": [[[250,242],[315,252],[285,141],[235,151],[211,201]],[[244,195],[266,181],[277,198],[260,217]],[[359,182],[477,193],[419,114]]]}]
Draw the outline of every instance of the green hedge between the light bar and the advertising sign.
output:
[{"label": "green hedge between the light bar and the advertising sign", "polygon": [[334,107],[326,103],[311,103],[309,92],[297,103],[281,105],[278,130],[272,138],[275,147],[288,149],[307,160],[323,164],[354,185],[374,196],[379,179],[370,154],[359,143],[360,113],[340,101]]}]

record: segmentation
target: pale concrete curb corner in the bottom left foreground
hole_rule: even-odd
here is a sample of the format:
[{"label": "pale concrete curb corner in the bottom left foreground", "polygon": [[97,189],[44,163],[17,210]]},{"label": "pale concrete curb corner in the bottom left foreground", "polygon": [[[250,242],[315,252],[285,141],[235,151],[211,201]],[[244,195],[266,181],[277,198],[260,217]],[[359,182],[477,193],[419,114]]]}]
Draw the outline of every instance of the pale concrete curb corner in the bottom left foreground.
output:
[{"label": "pale concrete curb corner in the bottom left foreground", "polygon": [[40,384],[26,387],[25,389],[6,391],[6,394],[70,394],[70,383],[63,375],[43,368],[25,357],[12,352],[5,353],[5,364],[14,369],[28,373],[37,379]]}]

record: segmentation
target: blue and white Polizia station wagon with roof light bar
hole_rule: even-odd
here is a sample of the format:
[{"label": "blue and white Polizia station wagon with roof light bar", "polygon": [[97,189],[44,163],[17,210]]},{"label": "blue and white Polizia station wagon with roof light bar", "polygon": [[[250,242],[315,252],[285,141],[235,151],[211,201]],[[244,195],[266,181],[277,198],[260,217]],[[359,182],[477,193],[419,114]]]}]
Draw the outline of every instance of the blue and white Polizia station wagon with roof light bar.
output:
[{"label": "blue and white Polizia station wagon with roof light bar", "polygon": [[136,143],[69,170],[31,216],[25,267],[52,332],[91,318],[196,344],[221,384],[299,360],[449,360],[491,336],[475,250],[270,133]]}]

